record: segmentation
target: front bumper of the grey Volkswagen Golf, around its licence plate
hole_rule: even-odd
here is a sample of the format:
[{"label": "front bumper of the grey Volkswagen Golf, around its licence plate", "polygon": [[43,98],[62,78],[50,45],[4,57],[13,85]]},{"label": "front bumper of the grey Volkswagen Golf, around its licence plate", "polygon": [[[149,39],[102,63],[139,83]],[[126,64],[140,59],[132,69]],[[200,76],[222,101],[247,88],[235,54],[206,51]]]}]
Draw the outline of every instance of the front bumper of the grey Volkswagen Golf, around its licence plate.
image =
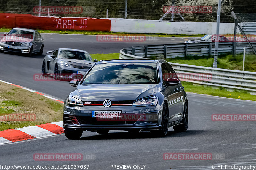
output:
[{"label": "front bumper of the grey Volkswagen Golf, around its licence plate", "polygon": [[[159,102],[162,103],[162,102]],[[63,127],[64,130],[132,130],[138,129],[142,131],[161,129],[161,109],[162,105],[136,107],[136,106],[83,106],[83,107],[69,107],[65,106]],[[122,110],[122,115],[150,115],[150,119],[129,119],[121,121],[99,121],[92,118],[92,111],[105,110]],[[76,117],[76,119],[70,117]],[[73,121],[72,120],[76,120]]]}]

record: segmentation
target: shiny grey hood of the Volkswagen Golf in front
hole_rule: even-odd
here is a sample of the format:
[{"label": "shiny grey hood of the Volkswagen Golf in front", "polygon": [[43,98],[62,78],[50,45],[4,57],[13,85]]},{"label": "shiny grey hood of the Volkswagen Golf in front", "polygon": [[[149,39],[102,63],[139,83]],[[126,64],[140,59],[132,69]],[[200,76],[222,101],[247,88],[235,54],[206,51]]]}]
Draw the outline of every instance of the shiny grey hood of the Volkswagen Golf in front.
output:
[{"label": "shiny grey hood of the Volkswagen Golf in front", "polygon": [[152,95],[160,88],[160,84],[80,84],[71,96],[83,101],[137,100]]}]

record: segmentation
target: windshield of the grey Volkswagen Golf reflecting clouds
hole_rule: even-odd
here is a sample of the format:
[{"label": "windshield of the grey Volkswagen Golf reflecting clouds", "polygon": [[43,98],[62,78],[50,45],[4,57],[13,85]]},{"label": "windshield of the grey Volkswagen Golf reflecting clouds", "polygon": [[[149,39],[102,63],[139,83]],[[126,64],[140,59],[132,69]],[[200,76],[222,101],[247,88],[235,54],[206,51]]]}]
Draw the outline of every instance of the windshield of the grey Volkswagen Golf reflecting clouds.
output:
[{"label": "windshield of the grey Volkswagen Golf reflecting clouds", "polygon": [[156,63],[96,64],[82,84],[158,83]]}]

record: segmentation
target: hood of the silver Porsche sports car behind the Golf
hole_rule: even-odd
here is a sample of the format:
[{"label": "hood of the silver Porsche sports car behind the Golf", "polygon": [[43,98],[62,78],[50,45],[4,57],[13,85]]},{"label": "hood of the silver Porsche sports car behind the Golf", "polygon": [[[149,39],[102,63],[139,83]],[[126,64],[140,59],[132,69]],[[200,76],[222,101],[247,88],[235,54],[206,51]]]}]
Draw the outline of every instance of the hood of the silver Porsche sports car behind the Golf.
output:
[{"label": "hood of the silver Porsche sports car behind the Golf", "polygon": [[60,61],[65,61],[70,64],[72,67],[81,68],[81,69],[90,69],[95,62],[87,60],[77,60],[70,58],[60,58]]}]

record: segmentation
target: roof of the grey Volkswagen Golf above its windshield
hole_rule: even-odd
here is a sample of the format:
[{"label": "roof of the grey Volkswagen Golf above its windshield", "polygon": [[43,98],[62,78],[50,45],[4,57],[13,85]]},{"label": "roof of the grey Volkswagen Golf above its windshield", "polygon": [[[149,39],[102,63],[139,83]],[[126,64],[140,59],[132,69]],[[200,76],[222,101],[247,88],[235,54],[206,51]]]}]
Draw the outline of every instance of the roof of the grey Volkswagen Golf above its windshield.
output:
[{"label": "roof of the grey Volkswagen Golf above its windshield", "polygon": [[136,59],[112,59],[112,60],[100,60],[97,64],[100,63],[158,63],[163,59],[148,59],[148,58],[136,58]]}]

